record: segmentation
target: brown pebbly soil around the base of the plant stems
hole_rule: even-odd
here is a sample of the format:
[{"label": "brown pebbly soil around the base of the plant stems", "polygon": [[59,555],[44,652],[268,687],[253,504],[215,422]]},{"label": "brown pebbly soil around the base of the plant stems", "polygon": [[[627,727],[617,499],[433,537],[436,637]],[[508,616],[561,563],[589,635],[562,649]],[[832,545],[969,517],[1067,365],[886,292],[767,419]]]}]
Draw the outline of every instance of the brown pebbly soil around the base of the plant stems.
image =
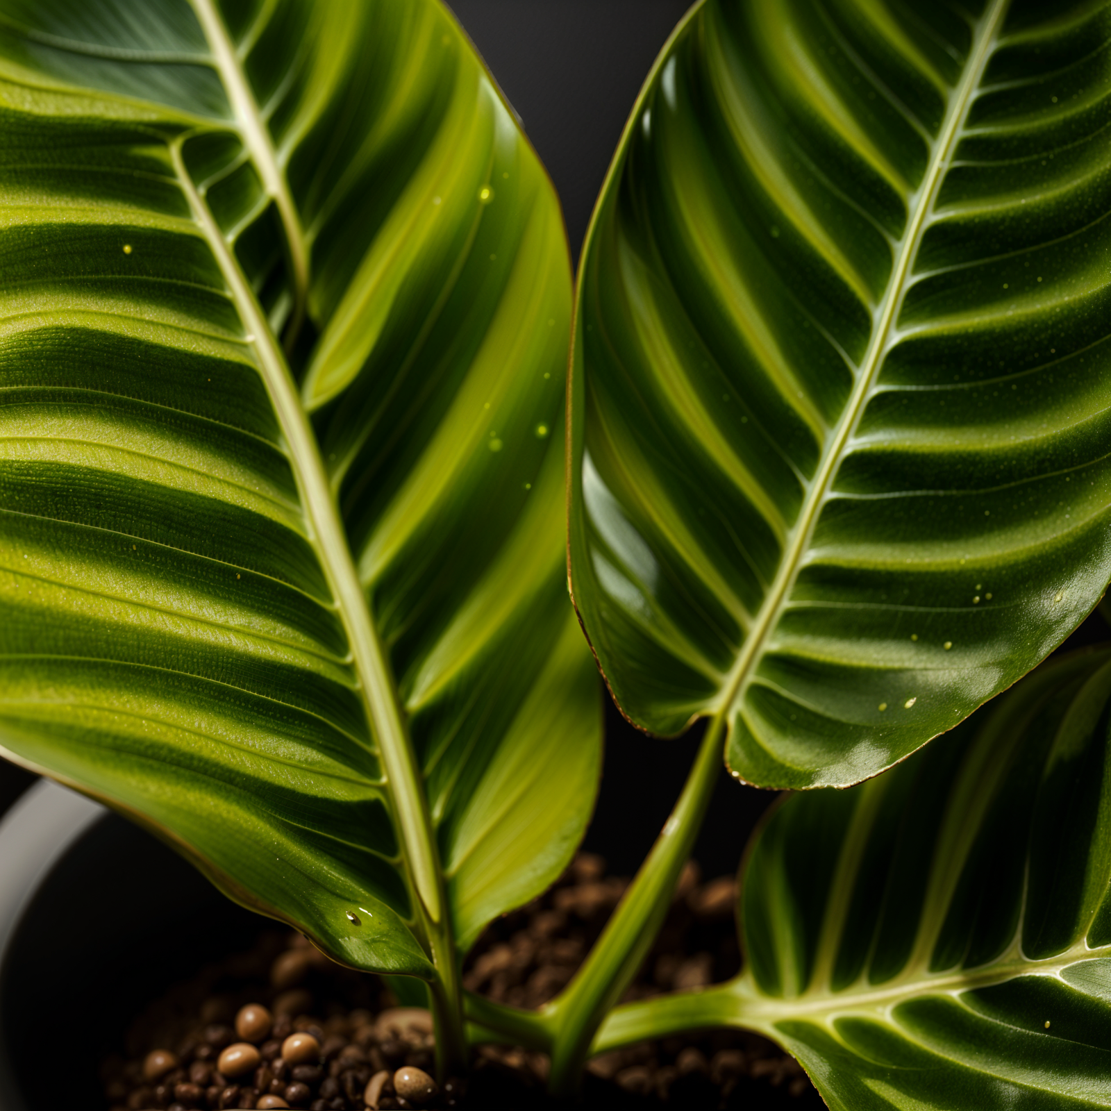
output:
[{"label": "brown pebbly soil around the base of the plant stems", "polygon": [[[607,875],[600,857],[580,853],[542,898],[491,924],[464,964],[466,985],[518,1007],[547,1002],[570,980],[627,883]],[[740,963],[734,898],[731,877],[702,883],[697,867],[688,865],[660,938],[625,999],[733,975]],[[293,1034],[309,1041],[287,1041]],[[246,1050],[222,1055],[243,1043]],[[298,1047],[300,1055],[308,1055],[293,1063]],[[549,1105],[547,1057],[508,1047],[480,1047],[466,1080],[454,1078],[429,1095],[421,1088],[424,1073],[433,1072],[428,1013],[399,1007],[378,977],[333,964],[300,934],[273,930],[250,951],[206,967],[150,1003],[120,1050],[102,1068],[106,1105],[112,1111],[362,1111],[376,1104],[381,1111],[520,1111]],[[224,1075],[224,1065],[238,1074]],[[792,1058],[743,1031],[669,1038],[595,1058],[582,1105],[824,1107]]]}]

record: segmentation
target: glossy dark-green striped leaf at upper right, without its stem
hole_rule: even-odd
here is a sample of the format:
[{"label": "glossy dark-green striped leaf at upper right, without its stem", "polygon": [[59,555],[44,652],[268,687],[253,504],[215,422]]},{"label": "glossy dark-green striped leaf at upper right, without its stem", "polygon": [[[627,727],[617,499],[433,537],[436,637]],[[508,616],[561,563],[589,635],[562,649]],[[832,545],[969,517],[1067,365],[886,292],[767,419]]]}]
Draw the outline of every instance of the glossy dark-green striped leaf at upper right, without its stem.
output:
[{"label": "glossy dark-green striped leaf at upper right, without its stem", "polygon": [[1111,574],[1091,0],[707,0],[588,236],[571,579],[610,687],[765,787],[874,774]]}]

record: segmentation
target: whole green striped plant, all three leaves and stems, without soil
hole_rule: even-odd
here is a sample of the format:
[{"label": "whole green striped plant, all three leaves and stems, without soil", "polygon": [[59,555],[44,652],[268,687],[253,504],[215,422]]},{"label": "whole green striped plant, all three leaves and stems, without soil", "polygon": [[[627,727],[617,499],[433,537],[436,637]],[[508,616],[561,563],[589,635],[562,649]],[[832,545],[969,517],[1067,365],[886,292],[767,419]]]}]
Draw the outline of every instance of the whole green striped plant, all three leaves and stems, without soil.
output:
[{"label": "whole green striped plant, all three leaves and stems, without soil", "polygon": [[[509,1041],[565,1095],[592,1053],[740,1025],[831,1107],[1105,1105],[1105,655],[961,725],[1111,574],[1104,22],[695,4],[572,293],[434,0],[20,7],[6,753],[426,984],[441,1082]],[[593,802],[564,541],[623,712],[708,727],[528,1011],[461,960]],[[723,754],[809,792],[750,848],[749,963],[617,1007]]]}]

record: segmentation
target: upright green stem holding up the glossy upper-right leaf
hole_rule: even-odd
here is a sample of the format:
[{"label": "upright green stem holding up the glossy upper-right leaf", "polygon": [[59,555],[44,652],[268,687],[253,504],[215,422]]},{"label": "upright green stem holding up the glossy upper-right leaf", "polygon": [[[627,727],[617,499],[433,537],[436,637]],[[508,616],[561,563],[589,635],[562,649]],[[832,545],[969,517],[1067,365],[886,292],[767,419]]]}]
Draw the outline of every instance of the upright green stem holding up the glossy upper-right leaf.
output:
[{"label": "upright green stem holding up the glossy upper-right leaf", "polygon": [[632,982],[663,924],[679,873],[690,855],[713,793],[721,767],[724,722],[723,711],[710,722],[683,793],[648,859],[582,968],[563,992],[543,1009],[546,1023],[554,1031],[549,1079],[553,1095],[571,1095],[578,1090],[594,1032]]}]

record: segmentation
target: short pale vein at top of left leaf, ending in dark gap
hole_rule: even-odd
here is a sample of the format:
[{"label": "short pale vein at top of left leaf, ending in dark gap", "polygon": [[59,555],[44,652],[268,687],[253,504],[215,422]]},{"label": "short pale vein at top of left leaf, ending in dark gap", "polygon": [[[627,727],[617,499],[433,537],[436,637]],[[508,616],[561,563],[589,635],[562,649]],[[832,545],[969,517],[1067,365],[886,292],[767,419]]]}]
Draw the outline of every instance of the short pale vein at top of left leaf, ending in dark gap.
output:
[{"label": "short pale vein at top of left leaf, ending in dark gap", "polygon": [[296,332],[304,314],[309,296],[309,252],[301,228],[301,218],[289,191],[278,151],[270,138],[270,130],[262,119],[254,93],[239,64],[239,57],[223,20],[212,0],[190,0],[190,2],[212,51],[217,72],[220,74],[236,122],[239,124],[240,137],[251,156],[251,162],[259,171],[262,188],[278,208],[292,269],[290,279],[293,287],[293,308],[290,313],[290,331]]}]

